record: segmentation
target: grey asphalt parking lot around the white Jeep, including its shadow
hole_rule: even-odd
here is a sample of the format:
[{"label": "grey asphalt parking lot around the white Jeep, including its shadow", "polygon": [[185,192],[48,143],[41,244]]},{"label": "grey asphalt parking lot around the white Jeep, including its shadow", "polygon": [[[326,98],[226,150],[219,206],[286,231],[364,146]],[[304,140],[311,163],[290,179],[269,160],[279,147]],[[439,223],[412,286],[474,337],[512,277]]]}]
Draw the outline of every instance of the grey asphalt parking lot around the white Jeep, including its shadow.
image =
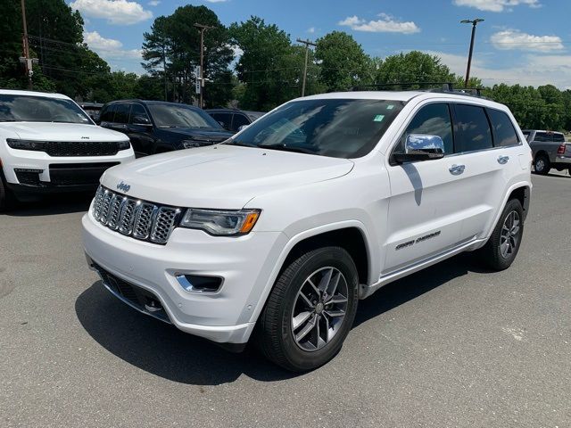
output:
[{"label": "grey asphalt parking lot around the white Jeep, including its shadow", "polygon": [[1,426],[571,425],[571,177],[533,177],[514,265],[469,254],[360,302],[290,374],[129,309],[87,269],[88,197],[0,215]]}]

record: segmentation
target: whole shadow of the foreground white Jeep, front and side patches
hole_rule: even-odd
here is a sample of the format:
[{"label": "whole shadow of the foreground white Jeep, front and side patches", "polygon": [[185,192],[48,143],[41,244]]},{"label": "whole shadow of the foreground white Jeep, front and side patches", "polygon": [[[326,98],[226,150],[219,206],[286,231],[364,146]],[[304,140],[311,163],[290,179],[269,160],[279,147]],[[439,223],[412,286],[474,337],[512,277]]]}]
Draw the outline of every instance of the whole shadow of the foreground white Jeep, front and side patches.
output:
[{"label": "whole shadow of the foreground white Jeep, front and side patches", "polygon": [[[360,302],[353,327],[468,271],[485,273],[472,259],[469,254],[461,254],[386,285]],[[171,381],[218,385],[233,382],[241,374],[261,382],[300,375],[273,365],[252,346],[243,353],[230,353],[130,309],[107,292],[101,281],[79,295],[75,309],[81,325],[104,349],[133,366]]]}]

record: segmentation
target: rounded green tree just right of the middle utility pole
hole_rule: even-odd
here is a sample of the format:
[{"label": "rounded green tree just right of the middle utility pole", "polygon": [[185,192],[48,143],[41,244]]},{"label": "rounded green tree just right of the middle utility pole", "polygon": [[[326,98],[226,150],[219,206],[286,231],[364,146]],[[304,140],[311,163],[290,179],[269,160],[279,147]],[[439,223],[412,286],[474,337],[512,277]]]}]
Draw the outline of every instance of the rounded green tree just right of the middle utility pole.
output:
[{"label": "rounded green tree just right of the middle utility pole", "polygon": [[343,31],[320,37],[315,57],[320,62],[320,81],[327,91],[344,91],[373,83],[372,60],[361,45]]}]

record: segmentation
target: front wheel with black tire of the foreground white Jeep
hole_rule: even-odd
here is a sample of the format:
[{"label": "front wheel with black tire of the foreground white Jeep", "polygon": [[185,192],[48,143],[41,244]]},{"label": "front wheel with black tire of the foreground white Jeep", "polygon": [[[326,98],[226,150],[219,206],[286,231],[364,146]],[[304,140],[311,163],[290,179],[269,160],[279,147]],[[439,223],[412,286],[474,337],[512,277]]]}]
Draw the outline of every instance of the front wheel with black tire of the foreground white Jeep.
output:
[{"label": "front wheel with black tire of the foreground white Jeep", "polygon": [[[321,304],[320,307],[319,303],[321,301],[326,302],[327,297],[331,298],[331,296],[334,297],[331,301],[343,299],[335,299],[335,291],[331,292],[330,295],[325,293],[327,297],[319,297],[317,293],[312,296],[311,288],[309,288],[311,285],[307,281],[308,278],[317,277],[319,279],[319,275],[322,275],[322,278],[326,278],[329,269],[332,272],[329,278],[334,278],[337,276],[337,273],[340,273],[342,276],[337,277],[343,277],[344,279],[344,283],[343,279],[339,279],[336,286],[332,285],[332,287],[335,286],[338,289],[339,294],[336,296],[343,298],[341,293],[345,291],[347,294],[346,303],[344,303],[346,305],[344,307],[344,317],[341,322],[336,321],[338,318],[329,317],[329,314],[334,312],[343,312],[343,310],[340,312],[335,311],[337,309],[334,308],[335,303],[329,303],[326,306]],[[327,279],[323,279],[321,284],[326,283]],[[334,283],[334,281],[330,281],[328,284]],[[346,284],[346,287],[343,284]],[[304,287],[308,288],[304,289]],[[313,290],[315,290],[314,287]],[[349,253],[343,250],[343,248],[322,247],[303,253],[292,260],[282,274],[278,276],[276,284],[274,284],[274,288],[269,294],[266,307],[261,313],[256,329],[255,342],[258,348],[266,358],[290,371],[307,371],[324,365],[331,358],[335,357],[351,330],[359,302],[358,290],[359,275],[357,268]],[[310,306],[307,306],[305,313],[312,311],[312,317],[309,319],[310,321],[317,321],[313,323],[316,327],[312,327],[310,333],[303,336],[303,340],[296,342],[294,332],[297,331],[296,337],[299,337],[302,335],[302,330],[311,324],[308,321],[305,325],[300,323],[302,327],[297,327],[298,330],[294,328],[294,311],[300,308],[300,304],[305,304],[304,301],[311,303],[310,300],[303,300],[300,297],[302,295],[301,292],[304,293],[304,296],[307,295],[310,300],[313,300],[314,309],[310,309]],[[300,313],[298,316],[300,315],[302,314]],[[339,322],[336,325],[340,325],[336,330],[335,322]],[[330,333],[331,338],[329,339]],[[325,340],[323,337],[325,337]],[[315,350],[302,348],[310,347],[314,342],[316,344]]]}]

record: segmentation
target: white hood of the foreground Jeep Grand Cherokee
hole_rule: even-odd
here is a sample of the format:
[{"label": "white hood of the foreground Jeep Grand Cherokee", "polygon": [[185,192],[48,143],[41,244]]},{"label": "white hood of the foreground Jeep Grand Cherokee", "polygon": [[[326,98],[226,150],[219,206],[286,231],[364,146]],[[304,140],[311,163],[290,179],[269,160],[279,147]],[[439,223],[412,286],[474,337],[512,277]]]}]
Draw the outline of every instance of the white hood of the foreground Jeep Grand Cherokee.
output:
[{"label": "white hood of the foreground Jeep Grand Cherokee", "polygon": [[353,162],[219,144],[153,155],[108,169],[102,184],[178,207],[238,210],[255,196],[348,174]]}]

